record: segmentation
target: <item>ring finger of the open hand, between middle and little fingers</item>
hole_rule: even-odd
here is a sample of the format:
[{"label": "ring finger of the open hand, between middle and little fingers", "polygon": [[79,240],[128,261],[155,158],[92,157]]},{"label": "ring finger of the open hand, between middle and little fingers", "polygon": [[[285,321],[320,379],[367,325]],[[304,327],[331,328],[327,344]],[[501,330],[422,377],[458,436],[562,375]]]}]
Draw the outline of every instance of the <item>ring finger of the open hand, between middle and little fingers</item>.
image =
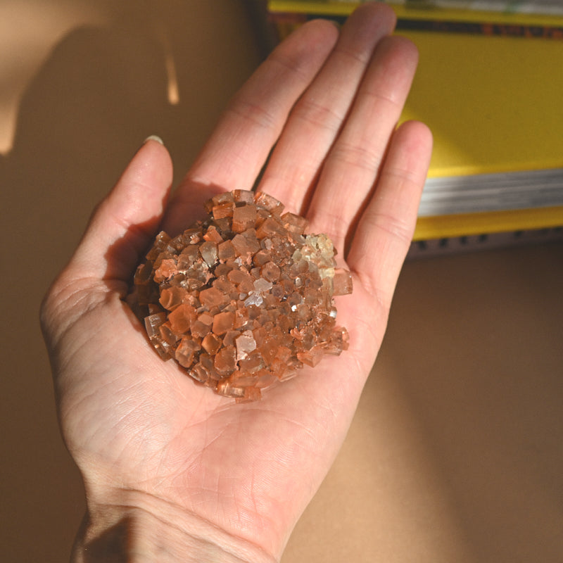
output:
[{"label": "ring finger of the open hand, between middle and little fingers", "polygon": [[407,39],[379,43],[323,167],[308,210],[310,229],[327,233],[341,251],[372,192],[417,62],[417,49]]}]

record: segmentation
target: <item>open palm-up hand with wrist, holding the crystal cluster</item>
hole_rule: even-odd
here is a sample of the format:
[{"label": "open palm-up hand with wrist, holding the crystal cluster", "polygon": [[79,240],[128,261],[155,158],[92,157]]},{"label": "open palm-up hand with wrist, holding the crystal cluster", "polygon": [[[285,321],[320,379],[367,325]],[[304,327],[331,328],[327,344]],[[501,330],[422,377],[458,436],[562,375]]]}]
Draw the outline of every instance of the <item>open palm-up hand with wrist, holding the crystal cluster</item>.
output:
[{"label": "open palm-up hand with wrist, holding the crystal cluster", "polygon": [[[96,209],[42,306],[63,437],[87,492],[76,561],[275,561],[339,450],[384,335],[431,151],[396,122],[415,47],[386,6],[341,33],[304,25],[222,116],[168,201],[170,157],[147,141]],[[163,362],[124,298],[158,229],[218,191],[258,189],[331,236],[353,274],[336,298],[350,348],[235,404]],[[132,555],[134,554],[134,555]]]}]

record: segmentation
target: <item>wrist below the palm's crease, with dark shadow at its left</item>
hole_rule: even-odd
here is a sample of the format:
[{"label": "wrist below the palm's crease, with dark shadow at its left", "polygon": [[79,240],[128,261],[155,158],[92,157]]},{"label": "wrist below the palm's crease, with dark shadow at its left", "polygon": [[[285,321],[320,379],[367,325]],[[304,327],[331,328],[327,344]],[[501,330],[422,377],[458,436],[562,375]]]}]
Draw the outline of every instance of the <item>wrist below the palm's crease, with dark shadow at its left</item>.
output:
[{"label": "wrist below the palm's crease, with dark shadow at its left", "polygon": [[274,563],[262,548],[160,498],[137,491],[88,502],[73,563]]}]

